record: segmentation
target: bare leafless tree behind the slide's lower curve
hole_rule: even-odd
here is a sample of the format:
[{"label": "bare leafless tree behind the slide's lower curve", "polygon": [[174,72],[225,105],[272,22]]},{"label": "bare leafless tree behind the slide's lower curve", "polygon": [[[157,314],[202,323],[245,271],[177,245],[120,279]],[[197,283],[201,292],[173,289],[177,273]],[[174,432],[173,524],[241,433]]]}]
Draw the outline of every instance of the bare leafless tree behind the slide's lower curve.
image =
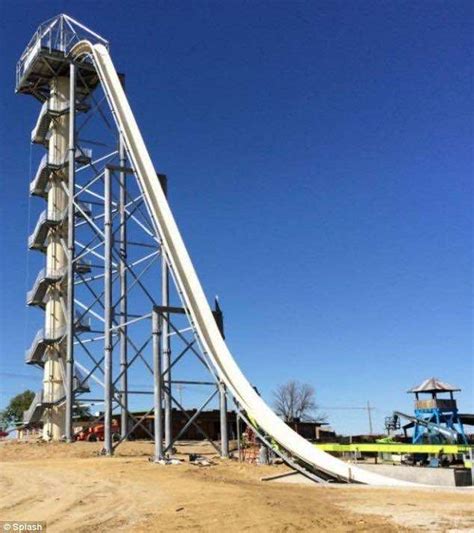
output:
[{"label": "bare leafless tree behind the slide's lower curve", "polygon": [[285,422],[323,422],[326,419],[326,415],[318,410],[314,387],[295,380],[287,381],[273,391],[273,408]]}]

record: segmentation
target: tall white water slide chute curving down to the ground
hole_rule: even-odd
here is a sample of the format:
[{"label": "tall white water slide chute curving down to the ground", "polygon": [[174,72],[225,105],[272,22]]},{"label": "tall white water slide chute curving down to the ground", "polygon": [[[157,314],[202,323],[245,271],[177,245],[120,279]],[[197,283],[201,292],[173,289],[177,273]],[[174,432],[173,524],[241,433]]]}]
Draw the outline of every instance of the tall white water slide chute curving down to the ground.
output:
[{"label": "tall white water slide chute curving down to the ground", "polygon": [[178,290],[189,310],[192,325],[219,378],[241,409],[279,448],[309,471],[341,481],[369,485],[416,485],[369,472],[318,450],[286,425],[255,392],[219,333],[108,50],[101,44],[80,41],[71,50],[71,55],[77,60],[88,56],[95,65],[117,127],[125,140],[148,210],[162,238]]}]

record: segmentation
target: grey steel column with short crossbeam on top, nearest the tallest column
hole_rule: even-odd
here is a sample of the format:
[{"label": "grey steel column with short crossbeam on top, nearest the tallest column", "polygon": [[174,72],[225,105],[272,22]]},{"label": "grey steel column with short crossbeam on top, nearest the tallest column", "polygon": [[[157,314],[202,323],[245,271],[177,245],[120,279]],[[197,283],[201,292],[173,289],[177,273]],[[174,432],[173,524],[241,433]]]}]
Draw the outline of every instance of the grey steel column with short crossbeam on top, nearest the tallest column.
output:
[{"label": "grey steel column with short crossbeam on top, nearest the tallest column", "polygon": [[104,453],[112,455],[112,183],[104,174]]}]

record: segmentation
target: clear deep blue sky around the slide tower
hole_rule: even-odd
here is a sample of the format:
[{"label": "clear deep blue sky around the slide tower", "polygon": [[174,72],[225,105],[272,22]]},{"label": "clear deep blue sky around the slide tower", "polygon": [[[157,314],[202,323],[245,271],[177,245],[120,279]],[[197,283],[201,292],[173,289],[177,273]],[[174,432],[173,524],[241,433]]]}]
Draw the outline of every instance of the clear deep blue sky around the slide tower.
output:
[{"label": "clear deep blue sky around the slide tower", "polygon": [[[40,385],[23,364],[38,104],[14,95],[15,63],[65,12],[110,40],[205,290],[265,398],[299,379],[328,408],[370,400],[381,430],[434,375],[473,412],[471,2],[0,9],[0,405]],[[326,412],[339,431],[367,430],[363,411]]]}]

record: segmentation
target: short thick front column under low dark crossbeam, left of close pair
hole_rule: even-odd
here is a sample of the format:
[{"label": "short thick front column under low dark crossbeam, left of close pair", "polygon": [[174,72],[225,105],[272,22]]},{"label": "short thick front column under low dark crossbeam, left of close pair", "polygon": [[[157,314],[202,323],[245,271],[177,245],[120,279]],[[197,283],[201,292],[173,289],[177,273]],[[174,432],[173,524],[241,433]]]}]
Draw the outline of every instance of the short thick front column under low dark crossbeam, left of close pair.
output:
[{"label": "short thick front column under low dark crossbeam, left of close pair", "polygon": [[161,375],[161,348],[163,318],[157,309],[152,312],[152,336],[153,336],[153,398],[155,412],[155,457],[157,463],[163,459],[163,377]]}]

